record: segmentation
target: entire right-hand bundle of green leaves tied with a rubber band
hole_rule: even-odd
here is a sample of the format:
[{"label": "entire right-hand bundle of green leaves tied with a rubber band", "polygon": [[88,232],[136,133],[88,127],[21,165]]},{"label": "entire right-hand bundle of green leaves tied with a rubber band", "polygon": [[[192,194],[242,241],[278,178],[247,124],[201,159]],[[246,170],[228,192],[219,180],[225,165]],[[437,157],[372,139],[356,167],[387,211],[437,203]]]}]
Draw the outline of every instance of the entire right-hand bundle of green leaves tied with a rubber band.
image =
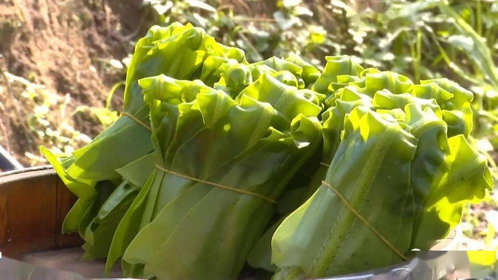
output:
[{"label": "entire right-hand bundle of green leaves tied with a rubber band", "polygon": [[326,175],[318,169],[310,184],[318,189],[272,236],[276,280],[399,263],[443,239],[462,207],[493,186],[486,157],[468,141],[472,93],[375,69],[351,80],[322,115]]}]

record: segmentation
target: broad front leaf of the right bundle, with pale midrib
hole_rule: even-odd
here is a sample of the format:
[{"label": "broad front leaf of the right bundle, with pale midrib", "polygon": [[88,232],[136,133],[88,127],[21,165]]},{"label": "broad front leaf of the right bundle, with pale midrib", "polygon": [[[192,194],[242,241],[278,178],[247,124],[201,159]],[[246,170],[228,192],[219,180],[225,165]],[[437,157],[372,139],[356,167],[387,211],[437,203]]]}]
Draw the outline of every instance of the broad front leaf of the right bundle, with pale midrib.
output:
[{"label": "broad front leaf of the right bundle, with pale midrib", "polygon": [[[398,124],[360,108],[345,122],[344,140],[325,181],[404,252],[410,245],[411,223],[406,216],[413,211],[409,173],[417,140]],[[274,276],[278,280],[348,274],[401,258],[322,185],[277,228],[271,260],[279,268]]]}]

